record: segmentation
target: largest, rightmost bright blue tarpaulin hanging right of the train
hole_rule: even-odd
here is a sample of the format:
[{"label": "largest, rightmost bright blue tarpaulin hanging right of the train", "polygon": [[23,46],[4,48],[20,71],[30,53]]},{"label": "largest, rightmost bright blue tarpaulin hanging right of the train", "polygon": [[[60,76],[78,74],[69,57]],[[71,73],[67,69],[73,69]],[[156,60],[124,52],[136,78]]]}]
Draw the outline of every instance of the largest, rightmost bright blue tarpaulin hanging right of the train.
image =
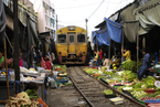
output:
[{"label": "largest, rightmost bright blue tarpaulin hanging right of the train", "polygon": [[107,18],[105,18],[105,20],[110,39],[117,43],[121,43],[121,33],[122,33],[121,24],[116,23]]}]

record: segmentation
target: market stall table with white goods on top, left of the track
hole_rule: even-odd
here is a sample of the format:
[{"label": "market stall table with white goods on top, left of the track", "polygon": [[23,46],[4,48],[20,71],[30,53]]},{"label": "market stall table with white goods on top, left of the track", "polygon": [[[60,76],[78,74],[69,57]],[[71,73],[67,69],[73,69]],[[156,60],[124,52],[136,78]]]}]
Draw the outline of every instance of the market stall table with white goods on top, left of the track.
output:
[{"label": "market stall table with white goods on top, left of the track", "polygon": [[[44,79],[45,79],[45,73],[40,73],[33,68],[25,68],[25,67],[20,67],[20,82],[15,83],[14,79],[14,69],[9,69],[9,83],[10,83],[10,93],[11,96],[14,95],[13,90],[14,90],[14,84],[20,84],[21,90],[24,90],[24,87],[28,83],[30,82],[34,82],[35,84],[39,85],[39,89],[38,89],[38,94],[40,95],[40,97],[44,99],[45,95],[44,95]],[[0,83],[4,84],[7,82],[6,79],[6,73],[4,72],[0,72]],[[1,88],[2,90],[6,90],[7,86],[3,85],[3,88]],[[3,94],[4,95],[4,94]],[[2,99],[7,99],[7,96],[4,95],[3,97],[1,97]]]}]

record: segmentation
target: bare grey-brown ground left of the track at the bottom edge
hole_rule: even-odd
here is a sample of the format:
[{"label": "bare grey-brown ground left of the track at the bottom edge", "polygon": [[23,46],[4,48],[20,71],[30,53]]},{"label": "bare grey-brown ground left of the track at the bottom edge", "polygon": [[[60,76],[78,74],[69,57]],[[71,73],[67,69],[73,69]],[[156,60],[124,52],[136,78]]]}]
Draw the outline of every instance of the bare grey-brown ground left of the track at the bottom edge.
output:
[{"label": "bare grey-brown ground left of the track at the bottom edge", "polygon": [[47,90],[49,107],[87,107],[74,86],[63,86]]}]

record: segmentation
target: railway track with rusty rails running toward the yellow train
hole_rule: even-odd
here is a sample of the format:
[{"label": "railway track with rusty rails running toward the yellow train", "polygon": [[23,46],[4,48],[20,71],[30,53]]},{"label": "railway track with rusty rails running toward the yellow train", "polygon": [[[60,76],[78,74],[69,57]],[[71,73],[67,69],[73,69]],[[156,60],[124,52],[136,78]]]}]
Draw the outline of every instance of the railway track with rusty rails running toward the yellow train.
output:
[{"label": "railway track with rusty rails running toward the yellow train", "polygon": [[[71,66],[68,67],[68,75],[77,90],[86,99],[90,107],[145,107],[145,105],[132,99],[131,97],[119,93],[115,88],[106,85],[103,82],[87,75],[82,67]],[[113,89],[116,96],[122,97],[124,104],[113,105],[109,98],[104,95],[104,89]]]}]

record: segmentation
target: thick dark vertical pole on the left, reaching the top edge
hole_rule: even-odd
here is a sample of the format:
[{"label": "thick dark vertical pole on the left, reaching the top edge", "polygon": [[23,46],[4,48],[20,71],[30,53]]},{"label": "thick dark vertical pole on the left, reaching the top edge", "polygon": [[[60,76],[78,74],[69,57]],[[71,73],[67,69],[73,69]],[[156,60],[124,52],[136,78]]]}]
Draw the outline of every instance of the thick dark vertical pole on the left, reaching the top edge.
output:
[{"label": "thick dark vertical pole on the left, reaching the top edge", "polygon": [[20,92],[20,86],[17,83],[20,82],[18,0],[13,0],[13,35],[14,35],[13,65],[15,74],[15,94],[17,94]]}]

